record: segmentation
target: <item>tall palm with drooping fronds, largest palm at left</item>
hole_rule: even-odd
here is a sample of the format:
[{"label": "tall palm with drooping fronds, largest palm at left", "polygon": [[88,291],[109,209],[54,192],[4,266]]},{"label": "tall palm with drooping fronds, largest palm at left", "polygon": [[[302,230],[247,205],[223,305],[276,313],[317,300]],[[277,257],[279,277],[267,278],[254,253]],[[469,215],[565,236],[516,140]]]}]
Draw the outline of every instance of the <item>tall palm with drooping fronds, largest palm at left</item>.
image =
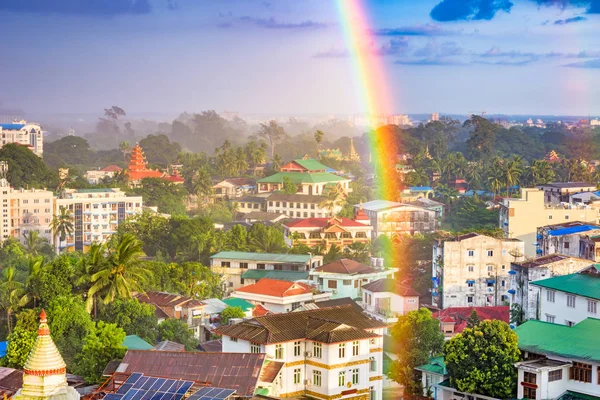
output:
[{"label": "tall palm with drooping fronds, largest palm at left", "polygon": [[88,312],[92,310],[96,295],[103,296],[103,303],[108,304],[115,298],[131,298],[134,291],[143,292],[143,284],[152,273],[141,262],[145,255],[142,247],[139,239],[126,233],[107,246],[105,255],[102,247],[98,248],[97,260],[91,263],[95,264],[96,272],[90,277]]}]

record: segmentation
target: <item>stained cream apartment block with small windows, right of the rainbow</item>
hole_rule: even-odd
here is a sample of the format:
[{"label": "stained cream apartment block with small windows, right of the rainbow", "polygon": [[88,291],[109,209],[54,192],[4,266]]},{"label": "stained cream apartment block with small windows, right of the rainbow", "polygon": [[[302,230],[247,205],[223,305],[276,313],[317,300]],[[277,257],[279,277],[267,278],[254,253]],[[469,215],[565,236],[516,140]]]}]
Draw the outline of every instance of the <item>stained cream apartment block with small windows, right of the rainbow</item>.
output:
[{"label": "stained cream apartment block with small windows, right of the rainbow", "polygon": [[522,259],[523,242],[517,239],[468,233],[437,240],[433,304],[440,308],[503,305],[509,298],[510,264]]}]

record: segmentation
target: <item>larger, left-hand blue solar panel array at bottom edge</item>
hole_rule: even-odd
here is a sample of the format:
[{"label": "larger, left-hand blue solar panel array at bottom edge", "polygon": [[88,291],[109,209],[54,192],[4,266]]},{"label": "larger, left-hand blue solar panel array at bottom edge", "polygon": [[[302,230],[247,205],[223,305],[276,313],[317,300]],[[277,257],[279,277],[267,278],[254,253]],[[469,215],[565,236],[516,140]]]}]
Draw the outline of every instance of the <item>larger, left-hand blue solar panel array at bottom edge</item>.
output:
[{"label": "larger, left-hand blue solar panel array at bottom edge", "polygon": [[181,400],[194,382],[180,379],[153,378],[134,373],[104,400]]}]

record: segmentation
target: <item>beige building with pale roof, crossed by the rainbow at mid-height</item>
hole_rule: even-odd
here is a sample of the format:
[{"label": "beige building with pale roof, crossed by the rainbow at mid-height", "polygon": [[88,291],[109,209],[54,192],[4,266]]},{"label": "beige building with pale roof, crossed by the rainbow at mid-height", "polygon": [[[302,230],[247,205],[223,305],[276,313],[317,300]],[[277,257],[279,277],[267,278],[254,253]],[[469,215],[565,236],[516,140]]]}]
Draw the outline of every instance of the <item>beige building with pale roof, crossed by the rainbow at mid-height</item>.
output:
[{"label": "beige building with pale roof, crossed by the rainbow at mid-height", "polygon": [[415,205],[388,200],[373,200],[354,206],[361,207],[371,222],[371,240],[381,235],[393,238],[396,235],[434,232],[439,226],[436,211]]}]

